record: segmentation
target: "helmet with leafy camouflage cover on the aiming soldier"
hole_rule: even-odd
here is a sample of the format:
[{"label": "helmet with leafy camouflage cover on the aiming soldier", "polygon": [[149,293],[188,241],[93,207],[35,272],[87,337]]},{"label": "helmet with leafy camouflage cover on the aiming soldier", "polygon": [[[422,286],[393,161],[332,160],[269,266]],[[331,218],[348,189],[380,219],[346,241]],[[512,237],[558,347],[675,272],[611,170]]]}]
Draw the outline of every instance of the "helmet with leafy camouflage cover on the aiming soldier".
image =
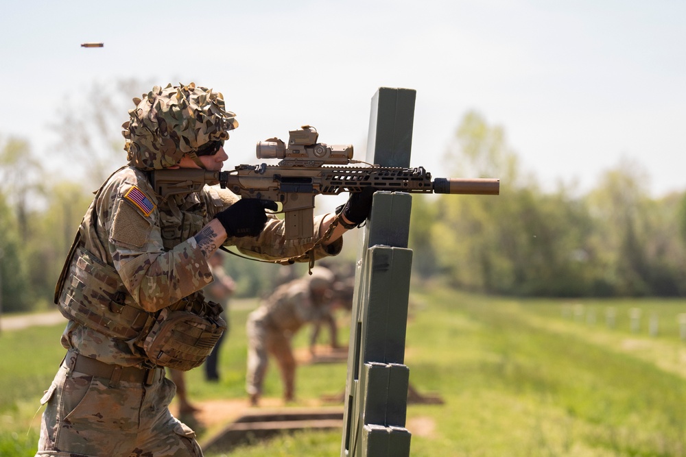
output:
[{"label": "helmet with leafy camouflage cover on the aiming soldier", "polygon": [[226,140],[238,127],[235,114],[226,111],[220,92],[196,87],[155,86],[134,98],[136,108],[121,125],[129,164],[143,170],[174,166],[185,155],[197,160],[198,148],[212,140]]}]

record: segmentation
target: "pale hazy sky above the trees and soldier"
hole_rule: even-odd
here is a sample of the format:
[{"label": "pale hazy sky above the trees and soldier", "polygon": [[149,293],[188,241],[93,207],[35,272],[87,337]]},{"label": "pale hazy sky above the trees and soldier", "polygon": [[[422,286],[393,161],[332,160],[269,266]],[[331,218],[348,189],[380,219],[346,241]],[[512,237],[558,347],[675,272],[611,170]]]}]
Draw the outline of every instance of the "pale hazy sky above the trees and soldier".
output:
[{"label": "pale hazy sky above the trees and soldier", "polygon": [[94,81],[193,81],[238,114],[230,166],[306,123],[362,158],[372,95],[402,87],[417,91],[412,165],[436,176],[477,110],[546,186],[590,188],[628,158],[661,195],[686,189],[685,21],[683,0],[9,2],[0,136],[53,155],[47,123]]}]

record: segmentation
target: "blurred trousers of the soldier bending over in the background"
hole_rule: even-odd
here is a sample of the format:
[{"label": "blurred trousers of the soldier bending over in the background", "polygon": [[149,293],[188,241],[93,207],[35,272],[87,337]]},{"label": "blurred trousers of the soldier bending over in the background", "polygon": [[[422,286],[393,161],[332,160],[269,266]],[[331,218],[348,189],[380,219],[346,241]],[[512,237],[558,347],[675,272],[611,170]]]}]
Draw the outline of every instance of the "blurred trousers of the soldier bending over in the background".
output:
[{"label": "blurred trousers of the soldier bending over in the background", "polygon": [[251,397],[259,397],[269,362],[269,354],[276,358],[283,381],[283,398],[290,401],[295,394],[296,360],[291,348],[292,334],[275,330],[254,316],[248,317],[248,372],[246,391]]}]

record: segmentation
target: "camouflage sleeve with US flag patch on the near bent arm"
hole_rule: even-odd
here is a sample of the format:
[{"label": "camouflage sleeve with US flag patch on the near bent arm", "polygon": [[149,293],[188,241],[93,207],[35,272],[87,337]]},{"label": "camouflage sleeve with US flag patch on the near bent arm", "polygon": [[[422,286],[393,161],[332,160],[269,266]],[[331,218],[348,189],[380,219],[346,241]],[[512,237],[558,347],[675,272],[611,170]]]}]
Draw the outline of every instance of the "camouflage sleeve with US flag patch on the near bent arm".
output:
[{"label": "camouflage sleeve with US flag patch on the near bent arm", "polygon": [[103,189],[98,205],[98,232],[134,300],[156,311],[212,282],[202,251],[191,237],[165,251],[158,201],[141,171],[123,169]]}]

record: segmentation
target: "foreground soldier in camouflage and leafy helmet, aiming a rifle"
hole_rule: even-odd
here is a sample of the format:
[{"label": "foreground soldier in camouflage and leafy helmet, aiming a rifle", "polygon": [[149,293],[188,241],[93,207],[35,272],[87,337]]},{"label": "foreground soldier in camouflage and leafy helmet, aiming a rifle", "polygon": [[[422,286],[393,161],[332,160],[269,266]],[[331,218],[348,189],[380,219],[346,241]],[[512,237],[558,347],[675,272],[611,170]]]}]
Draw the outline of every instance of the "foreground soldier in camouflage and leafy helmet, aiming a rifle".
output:
[{"label": "foreground soldier in camouflage and leafy helmet, aiming a rifle", "polygon": [[265,259],[303,254],[336,223],[314,253],[335,255],[369,212],[370,195],[353,195],[340,216],[315,218],[310,239],[286,243],[258,200],[210,186],[163,197],[149,171],[220,170],[238,123],[221,93],[192,83],[155,86],[134,103],[123,124],[128,165],[97,191],[56,287],[67,355],[41,399],[37,456],[202,455],[169,412],[175,387],[163,367],[199,366],[226,327],[202,296],[210,256],[220,245]]}]

